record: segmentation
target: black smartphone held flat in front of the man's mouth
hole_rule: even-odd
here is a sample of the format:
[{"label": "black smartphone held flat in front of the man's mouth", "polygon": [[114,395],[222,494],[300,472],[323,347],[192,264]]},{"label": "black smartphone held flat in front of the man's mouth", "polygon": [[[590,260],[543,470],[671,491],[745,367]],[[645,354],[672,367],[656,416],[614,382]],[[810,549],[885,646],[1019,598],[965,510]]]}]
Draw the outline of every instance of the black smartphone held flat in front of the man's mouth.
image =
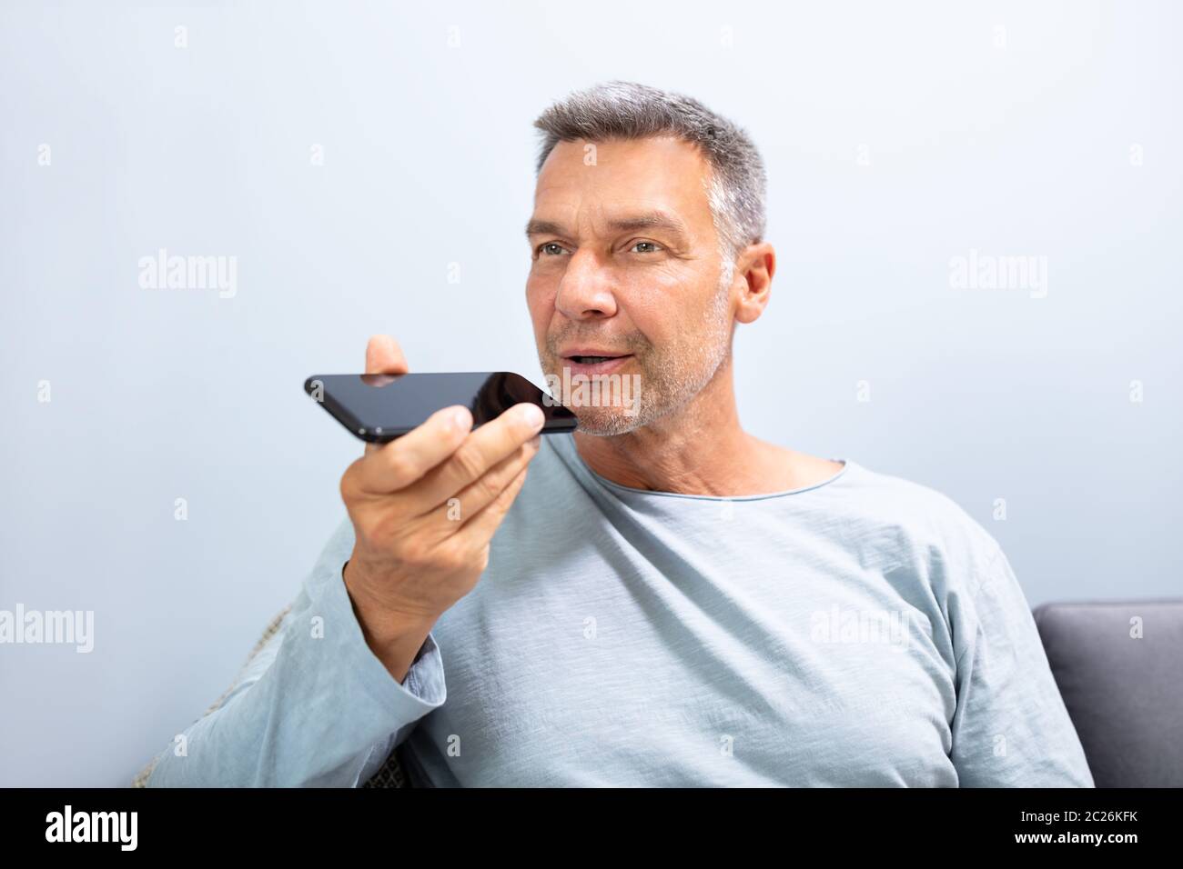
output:
[{"label": "black smartphone held flat in front of the man's mouth", "polygon": [[441,408],[464,404],[477,428],[525,401],[545,416],[542,434],[574,432],[578,417],[519,374],[322,374],[304,391],[363,441],[386,443],[421,426]]}]

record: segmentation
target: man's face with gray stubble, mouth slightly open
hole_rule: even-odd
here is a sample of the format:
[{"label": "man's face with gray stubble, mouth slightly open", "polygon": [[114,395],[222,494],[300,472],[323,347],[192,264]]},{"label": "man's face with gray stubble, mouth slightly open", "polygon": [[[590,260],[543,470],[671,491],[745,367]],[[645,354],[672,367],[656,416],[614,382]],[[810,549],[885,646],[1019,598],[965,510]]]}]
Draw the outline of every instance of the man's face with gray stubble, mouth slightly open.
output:
[{"label": "man's face with gray stubble, mouth slightly open", "polygon": [[[730,352],[733,312],[699,151],[672,137],[589,144],[560,142],[538,175],[526,304],[544,375],[562,382],[567,368],[576,382],[639,385],[632,408],[570,408],[581,432],[618,435],[710,382]],[[627,358],[581,364],[569,356],[580,350]]]}]

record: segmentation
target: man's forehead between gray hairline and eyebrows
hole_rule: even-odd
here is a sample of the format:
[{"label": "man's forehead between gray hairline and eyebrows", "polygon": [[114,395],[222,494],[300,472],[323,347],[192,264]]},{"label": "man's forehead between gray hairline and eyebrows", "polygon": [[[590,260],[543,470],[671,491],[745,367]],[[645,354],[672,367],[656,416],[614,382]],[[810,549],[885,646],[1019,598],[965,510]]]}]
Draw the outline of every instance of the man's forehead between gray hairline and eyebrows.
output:
[{"label": "man's forehead between gray hairline and eyebrows", "polygon": [[713,226],[704,187],[710,171],[698,148],[667,136],[560,142],[538,173],[534,216],[574,223],[657,210],[705,231]]}]

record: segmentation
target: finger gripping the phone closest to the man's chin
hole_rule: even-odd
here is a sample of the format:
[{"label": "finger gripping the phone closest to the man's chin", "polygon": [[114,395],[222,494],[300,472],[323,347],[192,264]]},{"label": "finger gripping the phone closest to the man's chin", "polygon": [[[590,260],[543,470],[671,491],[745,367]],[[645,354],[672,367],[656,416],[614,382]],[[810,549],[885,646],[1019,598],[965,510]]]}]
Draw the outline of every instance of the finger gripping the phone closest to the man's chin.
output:
[{"label": "finger gripping the phone closest to the man's chin", "polygon": [[545,417],[532,402],[515,404],[464,440],[446,462],[424,474],[412,495],[418,512],[428,513],[479,480],[542,429]]}]

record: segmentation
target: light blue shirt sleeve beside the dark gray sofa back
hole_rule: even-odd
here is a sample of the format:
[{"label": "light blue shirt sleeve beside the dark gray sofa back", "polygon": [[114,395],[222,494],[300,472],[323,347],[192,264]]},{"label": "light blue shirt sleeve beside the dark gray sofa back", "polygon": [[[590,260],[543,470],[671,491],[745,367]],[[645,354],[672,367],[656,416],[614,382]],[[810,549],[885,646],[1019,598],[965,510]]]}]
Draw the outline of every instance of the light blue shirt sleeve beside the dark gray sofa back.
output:
[{"label": "light blue shirt sleeve beside the dark gray sofa back", "polygon": [[950,759],[963,787],[1093,787],[1010,563],[990,538],[968,592],[950,595],[957,706]]}]

